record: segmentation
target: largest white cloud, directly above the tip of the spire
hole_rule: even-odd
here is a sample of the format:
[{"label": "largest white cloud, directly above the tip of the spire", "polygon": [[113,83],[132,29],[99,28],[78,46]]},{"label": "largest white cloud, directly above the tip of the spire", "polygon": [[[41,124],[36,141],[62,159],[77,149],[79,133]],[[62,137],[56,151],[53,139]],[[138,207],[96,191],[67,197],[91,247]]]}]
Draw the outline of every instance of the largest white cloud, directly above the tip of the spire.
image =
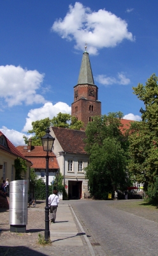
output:
[{"label": "largest white cloud, directly above the tip of the spire", "polygon": [[54,22],[52,31],[69,41],[75,40],[75,49],[78,50],[83,51],[87,42],[90,54],[97,54],[98,49],[103,47],[115,47],[124,39],[134,41],[125,20],[105,9],[92,12],[79,2],[69,5],[68,13],[63,20]]}]

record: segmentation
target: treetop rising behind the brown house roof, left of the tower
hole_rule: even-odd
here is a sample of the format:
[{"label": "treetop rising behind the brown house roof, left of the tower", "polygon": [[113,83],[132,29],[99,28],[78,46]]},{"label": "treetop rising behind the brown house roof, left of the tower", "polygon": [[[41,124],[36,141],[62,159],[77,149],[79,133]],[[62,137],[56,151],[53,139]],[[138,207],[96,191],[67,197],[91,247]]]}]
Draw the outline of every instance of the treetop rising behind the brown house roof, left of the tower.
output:
[{"label": "treetop rising behind the brown house roof, left of the tower", "polygon": [[[66,113],[59,113],[57,116],[54,116],[54,118],[50,119],[49,117],[41,120],[37,120],[35,122],[32,122],[32,130],[29,130],[27,133],[34,134],[32,136],[32,145],[42,145],[41,144],[41,137],[45,135],[45,131],[47,127],[50,127],[50,125],[54,127],[62,127],[62,128],[68,128],[68,129],[75,129],[80,130],[80,128],[83,127],[83,122],[78,121],[75,116],[71,116]],[[28,143],[27,136],[23,136],[25,144]]]}]

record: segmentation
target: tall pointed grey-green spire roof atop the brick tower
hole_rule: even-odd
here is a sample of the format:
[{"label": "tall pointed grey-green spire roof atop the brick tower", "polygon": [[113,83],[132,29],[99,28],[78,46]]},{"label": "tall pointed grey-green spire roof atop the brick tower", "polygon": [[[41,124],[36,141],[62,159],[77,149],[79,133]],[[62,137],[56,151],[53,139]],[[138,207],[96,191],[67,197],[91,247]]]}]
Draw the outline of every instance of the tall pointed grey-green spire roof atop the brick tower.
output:
[{"label": "tall pointed grey-green spire roof atop the brick tower", "polygon": [[89,53],[83,52],[78,84],[94,84],[92,68],[90,66]]}]

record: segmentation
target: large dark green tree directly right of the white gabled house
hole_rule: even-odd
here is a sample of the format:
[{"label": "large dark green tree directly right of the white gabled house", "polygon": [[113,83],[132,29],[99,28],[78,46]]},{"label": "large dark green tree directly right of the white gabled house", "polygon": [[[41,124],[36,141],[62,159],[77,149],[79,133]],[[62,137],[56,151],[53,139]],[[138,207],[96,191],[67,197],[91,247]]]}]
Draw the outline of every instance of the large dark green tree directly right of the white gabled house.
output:
[{"label": "large dark green tree directly right of the white gabled house", "polygon": [[90,193],[96,198],[107,198],[108,193],[118,187],[126,188],[128,142],[119,127],[123,114],[109,113],[95,116],[87,125],[85,150],[90,154],[86,177]]}]

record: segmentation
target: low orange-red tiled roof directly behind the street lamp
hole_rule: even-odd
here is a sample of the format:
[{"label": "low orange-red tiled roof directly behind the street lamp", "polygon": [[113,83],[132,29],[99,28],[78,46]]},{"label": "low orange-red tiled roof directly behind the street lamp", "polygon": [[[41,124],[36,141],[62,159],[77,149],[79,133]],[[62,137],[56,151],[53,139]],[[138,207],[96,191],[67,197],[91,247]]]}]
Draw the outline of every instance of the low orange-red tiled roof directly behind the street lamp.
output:
[{"label": "low orange-red tiled roof directly behind the street lamp", "polygon": [[[28,151],[27,146],[18,146],[18,150],[24,154],[29,161],[32,162],[32,168],[45,169],[47,152],[43,151],[42,146],[31,146],[31,151]],[[57,158],[54,152],[49,152],[49,169],[59,169]]]}]

